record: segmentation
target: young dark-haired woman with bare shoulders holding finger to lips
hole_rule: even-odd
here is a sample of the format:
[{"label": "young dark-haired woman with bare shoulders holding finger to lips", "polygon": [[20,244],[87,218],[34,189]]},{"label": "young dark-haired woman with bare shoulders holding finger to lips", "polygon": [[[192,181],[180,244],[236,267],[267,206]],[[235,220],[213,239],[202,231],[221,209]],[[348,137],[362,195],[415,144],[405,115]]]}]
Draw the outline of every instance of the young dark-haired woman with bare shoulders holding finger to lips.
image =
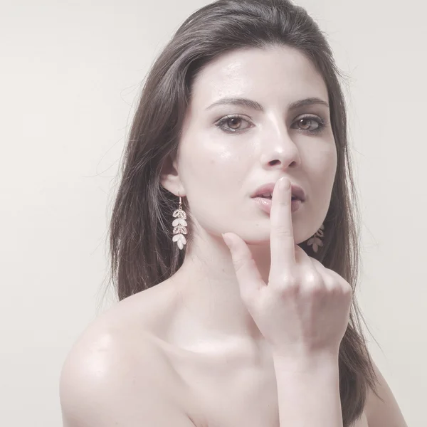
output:
[{"label": "young dark-haired woman with bare shoulders holding finger to lips", "polygon": [[186,19],[142,91],[110,229],[120,302],[65,361],[64,426],[406,426],[354,298],[346,120],[301,7]]}]

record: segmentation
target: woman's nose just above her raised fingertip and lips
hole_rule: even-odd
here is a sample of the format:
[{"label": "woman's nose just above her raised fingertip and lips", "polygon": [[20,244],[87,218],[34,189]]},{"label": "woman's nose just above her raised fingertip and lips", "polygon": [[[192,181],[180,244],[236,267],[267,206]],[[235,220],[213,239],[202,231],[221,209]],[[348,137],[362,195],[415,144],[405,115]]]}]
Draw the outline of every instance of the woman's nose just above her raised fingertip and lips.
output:
[{"label": "woman's nose just above her raised fingertip and lips", "polygon": [[260,162],[263,168],[288,168],[301,164],[300,150],[289,135],[285,126],[280,126],[277,132],[266,135],[262,142]]}]

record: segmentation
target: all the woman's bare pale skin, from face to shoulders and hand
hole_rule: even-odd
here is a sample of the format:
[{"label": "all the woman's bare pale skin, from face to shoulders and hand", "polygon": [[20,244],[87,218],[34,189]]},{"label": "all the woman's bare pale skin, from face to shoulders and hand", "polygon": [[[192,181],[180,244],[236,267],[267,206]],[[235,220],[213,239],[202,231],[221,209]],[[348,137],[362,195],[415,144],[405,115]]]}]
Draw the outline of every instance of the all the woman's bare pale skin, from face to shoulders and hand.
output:
[{"label": "all the woman's bare pale skin, from face to shoulders and hand", "polygon": [[[208,64],[193,92],[161,182],[188,199],[194,245],[172,278],[85,330],[61,375],[63,426],[340,426],[337,349],[352,291],[297,246],[325,219],[337,167],[330,125],[307,132],[329,117],[325,83],[297,51],[252,49]],[[208,108],[224,97],[263,111]],[[309,97],[326,105],[288,107]],[[248,127],[218,129],[227,115]],[[307,200],[292,214],[289,191],[276,185],[268,216],[249,194],[281,177]],[[384,404],[369,394],[355,427],[405,427],[379,376]]]}]

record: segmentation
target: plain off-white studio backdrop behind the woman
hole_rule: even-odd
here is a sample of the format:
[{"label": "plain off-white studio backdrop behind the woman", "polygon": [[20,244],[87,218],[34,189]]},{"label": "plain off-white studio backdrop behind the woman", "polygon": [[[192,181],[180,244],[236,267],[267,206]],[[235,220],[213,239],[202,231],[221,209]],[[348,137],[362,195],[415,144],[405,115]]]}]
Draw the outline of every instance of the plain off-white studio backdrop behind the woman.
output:
[{"label": "plain off-white studio backdrop behind the woman", "polygon": [[[141,83],[208,3],[1,1],[1,426],[61,425],[65,356],[113,301],[107,221]],[[408,426],[425,427],[426,2],[297,3],[350,78],[369,348]]]}]

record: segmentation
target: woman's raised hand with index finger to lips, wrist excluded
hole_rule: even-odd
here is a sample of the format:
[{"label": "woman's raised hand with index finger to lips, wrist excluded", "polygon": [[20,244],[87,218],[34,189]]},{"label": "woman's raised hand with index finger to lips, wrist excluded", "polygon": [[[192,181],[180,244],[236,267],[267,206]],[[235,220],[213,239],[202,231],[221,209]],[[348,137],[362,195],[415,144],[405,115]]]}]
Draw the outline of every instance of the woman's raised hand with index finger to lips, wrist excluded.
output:
[{"label": "woman's raised hand with index finger to lips, wrist excluded", "polygon": [[289,179],[273,190],[270,275],[266,285],[246,243],[225,233],[241,297],[273,352],[285,357],[338,354],[349,321],[352,287],[295,244]]}]

